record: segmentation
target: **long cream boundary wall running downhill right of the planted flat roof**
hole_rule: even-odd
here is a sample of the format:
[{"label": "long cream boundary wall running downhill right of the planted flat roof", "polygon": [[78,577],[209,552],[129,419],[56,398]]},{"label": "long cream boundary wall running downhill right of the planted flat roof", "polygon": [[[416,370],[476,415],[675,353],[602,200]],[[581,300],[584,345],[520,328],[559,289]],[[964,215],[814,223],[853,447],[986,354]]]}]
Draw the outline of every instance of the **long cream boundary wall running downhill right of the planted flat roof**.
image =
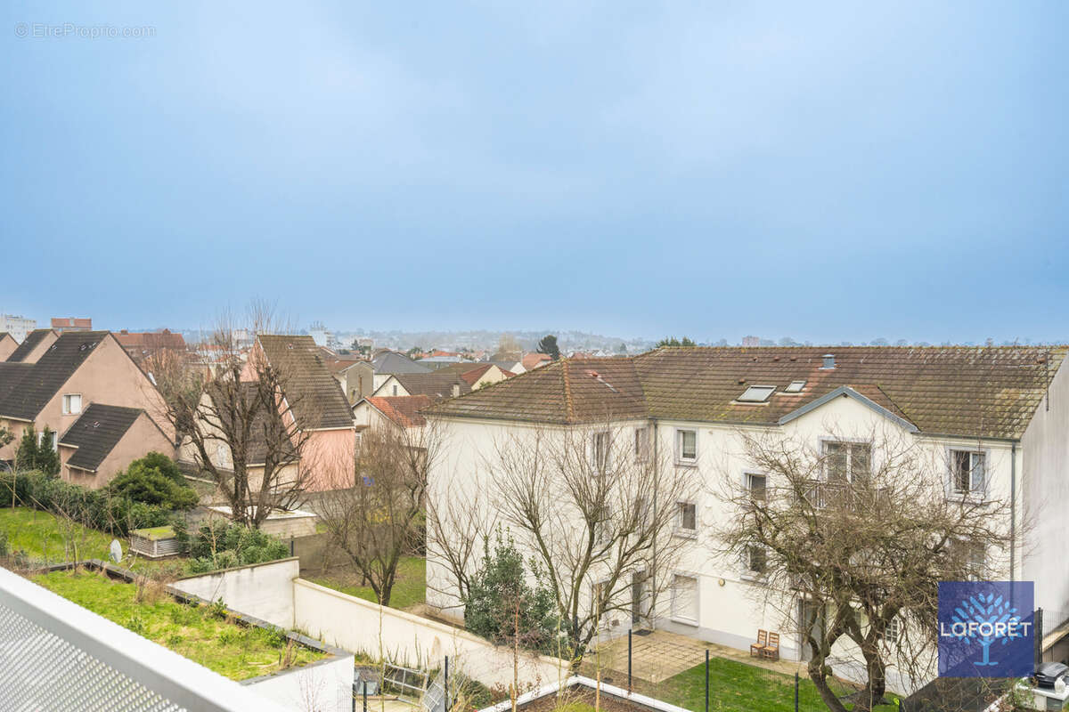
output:
[{"label": "long cream boundary wall running downhill right of the planted flat roof", "polygon": [[[293,582],[294,627],[327,645],[402,665],[449,668],[485,685],[512,682],[512,650],[435,620],[387,608],[309,581]],[[569,677],[568,663],[520,653],[520,684],[541,686]]]}]

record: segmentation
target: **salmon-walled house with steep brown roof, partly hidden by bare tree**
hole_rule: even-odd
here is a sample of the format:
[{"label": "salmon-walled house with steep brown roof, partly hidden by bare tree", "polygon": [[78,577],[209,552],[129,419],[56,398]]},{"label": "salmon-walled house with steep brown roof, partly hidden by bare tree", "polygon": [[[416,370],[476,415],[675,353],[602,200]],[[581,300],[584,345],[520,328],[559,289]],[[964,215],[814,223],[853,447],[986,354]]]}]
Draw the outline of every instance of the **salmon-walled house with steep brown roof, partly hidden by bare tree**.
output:
[{"label": "salmon-walled house with steep brown roof, partly hidden by bare tree", "polygon": [[252,345],[243,380],[255,378],[258,359],[285,371],[282,394],[297,418],[310,431],[300,453],[309,466],[309,489],[322,491],[352,484],[356,429],[353,412],[337,379],[330,375],[311,336],[260,334]]}]

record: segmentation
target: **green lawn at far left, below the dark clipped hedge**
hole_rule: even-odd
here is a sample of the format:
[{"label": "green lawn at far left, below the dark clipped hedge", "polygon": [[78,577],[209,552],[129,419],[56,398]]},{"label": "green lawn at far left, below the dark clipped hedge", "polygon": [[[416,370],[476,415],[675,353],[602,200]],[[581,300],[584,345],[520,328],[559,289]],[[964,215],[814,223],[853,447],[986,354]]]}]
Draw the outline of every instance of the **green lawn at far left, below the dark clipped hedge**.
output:
[{"label": "green lawn at far left, below the dark clipped hedge", "polygon": [[[29,507],[0,507],[0,533],[7,535],[10,554],[26,552],[34,564],[63,564],[90,558],[108,560],[111,535],[66,523],[55,515]],[[120,539],[123,545],[124,568],[134,571],[184,575],[185,558],[149,560],[130,557],[129,539]]]}]

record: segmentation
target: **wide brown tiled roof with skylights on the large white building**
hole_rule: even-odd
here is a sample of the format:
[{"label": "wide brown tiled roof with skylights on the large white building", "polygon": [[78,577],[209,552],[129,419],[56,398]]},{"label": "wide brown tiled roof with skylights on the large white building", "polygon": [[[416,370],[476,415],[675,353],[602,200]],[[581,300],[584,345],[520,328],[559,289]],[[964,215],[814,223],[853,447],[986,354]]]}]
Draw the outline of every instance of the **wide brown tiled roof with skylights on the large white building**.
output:
[{"label": "wide brown tiled roof with skylights on the large white building", "polygon": [[[835,354],[835,368],[823,355]],[[662,348],[566,360],[449,400],[444,415],[579,423],[607,416],[771,425],[850,386],[920,431],[1020,438],[1066,347]],[[786,394],[805,381],[799,394]],[[774,385],[765,404],[741,404]],[[611,387],[609,387],[611,386]]]}]

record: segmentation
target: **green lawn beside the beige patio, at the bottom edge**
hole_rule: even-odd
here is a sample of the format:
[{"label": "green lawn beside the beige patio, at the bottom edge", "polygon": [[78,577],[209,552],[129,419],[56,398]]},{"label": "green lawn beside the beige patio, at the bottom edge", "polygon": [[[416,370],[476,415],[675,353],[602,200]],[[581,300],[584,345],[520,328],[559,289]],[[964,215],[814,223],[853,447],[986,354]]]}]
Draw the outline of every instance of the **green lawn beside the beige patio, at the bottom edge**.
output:
[{"label": "green lawn beside the beige patio, at the bottom edge", "polygon": [[[684,670],[648,692],[639,692],[704,712],[706,664]],[[836,692],[841,696],[850,691]],[[710,712],[794,712],[794,678],[733,660],[712,658],[709,661],[709,709]],[[890,712],[897,708],[881,706],[876,709]],[[799,685],[799,710],[827,712],[817,687],[804,674]]]}]

